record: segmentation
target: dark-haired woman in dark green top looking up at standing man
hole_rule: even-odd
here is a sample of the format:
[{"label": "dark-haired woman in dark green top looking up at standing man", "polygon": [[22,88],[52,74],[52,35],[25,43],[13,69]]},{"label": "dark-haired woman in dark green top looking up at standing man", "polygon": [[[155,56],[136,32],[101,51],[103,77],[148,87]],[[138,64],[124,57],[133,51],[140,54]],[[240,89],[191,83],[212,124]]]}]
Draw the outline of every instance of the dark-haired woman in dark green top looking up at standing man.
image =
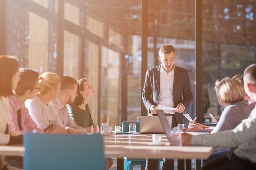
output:
[{"label": "dark-haired woman in dark green top looking up at standing man", "polygon": [[[93,87],[87,82],[86,78],[81,78],[77,82],[77,95],[72,106],[68,105],[68,113],[76,125],[85,127],[87,132],[91,131],[94,125],[92,115],[88,106],[88,101],[94,96]],[[112,158],[106,158],[106,170],[113,165]]]}]

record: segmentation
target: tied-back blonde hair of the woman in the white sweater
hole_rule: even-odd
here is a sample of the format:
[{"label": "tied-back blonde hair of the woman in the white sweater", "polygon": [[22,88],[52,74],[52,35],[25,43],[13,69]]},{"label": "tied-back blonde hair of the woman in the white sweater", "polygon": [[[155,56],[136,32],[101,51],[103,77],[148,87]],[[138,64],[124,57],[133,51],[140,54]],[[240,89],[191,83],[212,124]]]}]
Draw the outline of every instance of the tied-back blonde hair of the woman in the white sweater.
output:
[{"label": "tied-back blonde hair of the woman in the white sweater", "polygon": [[57,88],[60,84],[60,77],[54,72],[44,72],[39,77],[39,88],[36,95],[46,94],[50,88]]}]

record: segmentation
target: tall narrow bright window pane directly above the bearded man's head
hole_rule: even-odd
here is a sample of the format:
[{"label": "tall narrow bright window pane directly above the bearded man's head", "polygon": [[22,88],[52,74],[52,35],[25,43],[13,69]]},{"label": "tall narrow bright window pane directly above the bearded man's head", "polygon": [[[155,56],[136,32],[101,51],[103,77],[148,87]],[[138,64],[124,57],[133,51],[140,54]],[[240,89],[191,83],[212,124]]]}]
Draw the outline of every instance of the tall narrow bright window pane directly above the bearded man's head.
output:
[{"label": "tall narrow bright window pane directly above the bearded man's head", "polygon": [[79,37],[64,31],[64,76],[78,79]]}]

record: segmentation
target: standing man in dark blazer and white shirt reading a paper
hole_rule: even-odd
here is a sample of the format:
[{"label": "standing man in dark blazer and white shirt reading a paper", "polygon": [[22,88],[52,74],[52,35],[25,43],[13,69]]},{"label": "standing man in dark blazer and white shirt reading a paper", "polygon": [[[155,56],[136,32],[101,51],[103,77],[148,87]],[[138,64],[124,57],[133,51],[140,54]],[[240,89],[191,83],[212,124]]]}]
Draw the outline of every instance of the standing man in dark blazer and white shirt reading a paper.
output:
[{"label": "standing man in dark blazer and white shirt reading a paper", "polygon": [[190,88],[188,70],[174,65],[175,49],[165,44],[160,48],[160,66],[149,68],[146,72],[142,100],[148,113],[157,115],[156,106],[176,107],[174,111],[164,111],[172,116],[172,127],[183,124],[182,113],[190,105],[193,95]]}]

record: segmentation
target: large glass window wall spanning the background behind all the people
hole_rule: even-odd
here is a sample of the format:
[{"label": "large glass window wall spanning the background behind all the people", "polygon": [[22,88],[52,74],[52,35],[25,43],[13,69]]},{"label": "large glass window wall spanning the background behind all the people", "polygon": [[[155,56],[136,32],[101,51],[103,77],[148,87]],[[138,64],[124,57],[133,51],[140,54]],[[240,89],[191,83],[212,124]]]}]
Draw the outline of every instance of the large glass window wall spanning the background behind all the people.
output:
[{"label": "large glass window wall spanning the background behind all the people", "polygon": [[[196,116],[194,87],[202,67],[202,89],[210,98],[202,114],[219,116],[223,108],[216,99],[216,81],[240,74],[256,61],[256,1],[202,1],[202,66],[196,66],[195,1],[147,3],[148,48],[142,56],[141,0],[7,0],[7,29],[0,33],[7,37],[5,53],[17,56],[21,67],[40,73],[61,68],[63,75],[87,78],[96,92],[89,102],[94,122],[114,127],[137,121],[142,114],[142,65],[159,65],[158,50],[170,43],[176,48],[175,64],[187,69],[191,80],[194,99],[186,111]],[[64,42],[58,42],[58,36]]]}]

